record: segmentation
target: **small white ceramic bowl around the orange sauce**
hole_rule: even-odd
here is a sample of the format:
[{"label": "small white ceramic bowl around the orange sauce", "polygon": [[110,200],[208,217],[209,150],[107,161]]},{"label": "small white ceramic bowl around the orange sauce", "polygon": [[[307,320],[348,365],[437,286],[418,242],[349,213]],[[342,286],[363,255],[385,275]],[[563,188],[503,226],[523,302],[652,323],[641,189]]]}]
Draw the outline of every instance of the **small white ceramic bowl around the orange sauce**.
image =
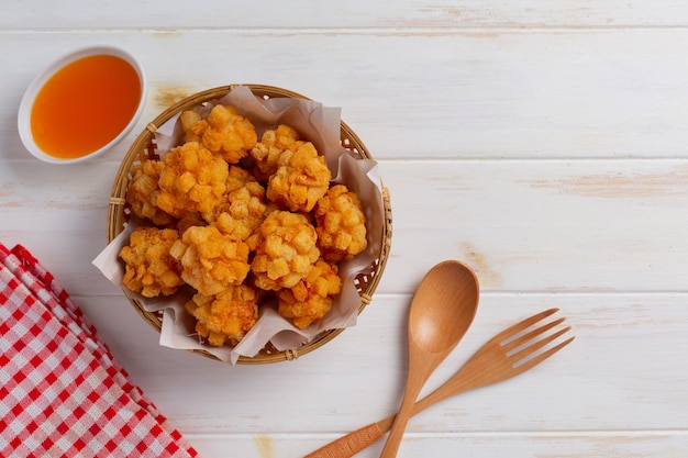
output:
[{"label": "small white ceramic bowl around the orange sauce", "polygon": [[[45,150],[43,150],[36,144],[36,142],[34,141],[34,135],[31,130],[31,115],[32,115],[32,110],[33,110],[36,96],[38,94],[41,89],[45,86],[45,83],[58,70],[64,68],[66,65],[75,60],[81,59],[84,57],[95,56],[95,55],[111,55],[111,56],[120,57],[124,59],[126,63],[129,63],[134,68],[134,70],[136,70],[136,74],[138,75],[138,81],[141,83],[141,98],[138,99],[136,111],[133,114],[132,119],[130,120],[129,124],[126,124],[126,126],[122,131],[120,131],[119,134],[114,138],[108,142],[106,145],[102,145],[98,149],[91,153],[88,153],[86,155],[76,157],[76,158],[59,158],[59,157],[53,156],[46,153]],[[35,156],[36,158],[45,163],[51,163],[51,164],[81,163],[92,157],[101,155],[102,153],[107,152],[112,146],[114,146],[116,143],[119,143],[136,124],[136,121],[141,116],[141,113],[143,112],[145,100],[146,100],[146,79],[145,79],[145,75],[143,71],[143,67],[131,54],[113,46],[89,46],[89,47],[79,48],[60,57],[54,63],[52,63],[41,75],[38,75],[31,82],[31,85],[26,89],[26,92],[24,92],[24,96],[19,107],[19,114],[18,114],[19,135],[22,139],[22,143],[24,144],[24,147],[33,156]]]}]

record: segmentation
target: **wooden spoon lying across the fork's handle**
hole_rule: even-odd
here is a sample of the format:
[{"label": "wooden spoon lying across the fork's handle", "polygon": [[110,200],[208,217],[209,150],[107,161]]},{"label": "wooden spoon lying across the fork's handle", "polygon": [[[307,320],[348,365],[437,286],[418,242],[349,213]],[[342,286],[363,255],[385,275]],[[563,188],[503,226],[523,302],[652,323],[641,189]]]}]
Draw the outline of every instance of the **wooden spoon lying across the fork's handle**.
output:
[{"label": "wooden spoon lying across the fork's handle", "polygon": [[440,262],[421,281],[409,314],[409,371],[401,406],[380,458],[397,455],[421,389],[464,337],[478,309],[475,272],[455,260]]}]

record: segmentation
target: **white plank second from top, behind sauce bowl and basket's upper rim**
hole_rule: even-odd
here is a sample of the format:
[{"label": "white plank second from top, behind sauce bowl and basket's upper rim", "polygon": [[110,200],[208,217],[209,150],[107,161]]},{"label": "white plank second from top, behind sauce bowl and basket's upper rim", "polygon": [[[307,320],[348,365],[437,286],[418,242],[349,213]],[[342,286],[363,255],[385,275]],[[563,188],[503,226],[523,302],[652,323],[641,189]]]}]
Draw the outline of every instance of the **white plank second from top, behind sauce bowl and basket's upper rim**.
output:
[{"label": "white plank second from top, behind sauce bowl and basket's upper rim", "polygon": [[[15,55],[18,41],[35,52]],[[15,119],[35,75],[82,42],[127,48],[151,86],[135,131],[102,161],[118,160],[175,101],[232,82],[279,86],[342,107],[343,119],[380,159],[687,152],[688,60],[676,58],[688,43],[686,29],[5,32],[0,55],[13,65],[5,68],[0,115]],[[213,43],[241,43],[241,53],[225,56]],[[15,125],[0,129],[5,157],[26,158]]]}]

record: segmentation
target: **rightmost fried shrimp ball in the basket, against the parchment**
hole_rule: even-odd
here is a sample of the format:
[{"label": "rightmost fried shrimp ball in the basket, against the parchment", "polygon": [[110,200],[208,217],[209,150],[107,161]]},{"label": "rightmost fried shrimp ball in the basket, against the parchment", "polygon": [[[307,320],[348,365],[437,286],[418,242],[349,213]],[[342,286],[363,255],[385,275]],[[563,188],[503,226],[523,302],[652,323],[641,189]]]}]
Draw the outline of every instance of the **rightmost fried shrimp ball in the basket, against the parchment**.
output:
[{"label": "rightmost fried shrimp ball in the basket, against the parchment", "polygon": [[318,246],[331,262],[352,259],[366,249],[366,217],[360,199],[344,185],[335,185],[315,204]]}]

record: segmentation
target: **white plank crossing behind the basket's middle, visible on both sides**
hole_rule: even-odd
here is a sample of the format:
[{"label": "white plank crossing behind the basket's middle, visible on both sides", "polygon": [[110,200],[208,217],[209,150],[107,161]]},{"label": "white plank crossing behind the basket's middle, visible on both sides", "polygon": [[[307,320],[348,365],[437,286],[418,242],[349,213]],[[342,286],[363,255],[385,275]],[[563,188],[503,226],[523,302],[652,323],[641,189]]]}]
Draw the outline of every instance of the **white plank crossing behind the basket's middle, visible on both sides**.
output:
[{"label": "white plank crossing behind the basket's middle, visible on both sides", "polygon": [[[110,161],[0,169],[0,238],[33,247],[75,292],[116,291],[84,271],[107,243],[115,174]],[[685,160],[389,160],[380,174],[393,228],[382,292],[410,292],[445,258],[488,291],[686,291]]]}]

